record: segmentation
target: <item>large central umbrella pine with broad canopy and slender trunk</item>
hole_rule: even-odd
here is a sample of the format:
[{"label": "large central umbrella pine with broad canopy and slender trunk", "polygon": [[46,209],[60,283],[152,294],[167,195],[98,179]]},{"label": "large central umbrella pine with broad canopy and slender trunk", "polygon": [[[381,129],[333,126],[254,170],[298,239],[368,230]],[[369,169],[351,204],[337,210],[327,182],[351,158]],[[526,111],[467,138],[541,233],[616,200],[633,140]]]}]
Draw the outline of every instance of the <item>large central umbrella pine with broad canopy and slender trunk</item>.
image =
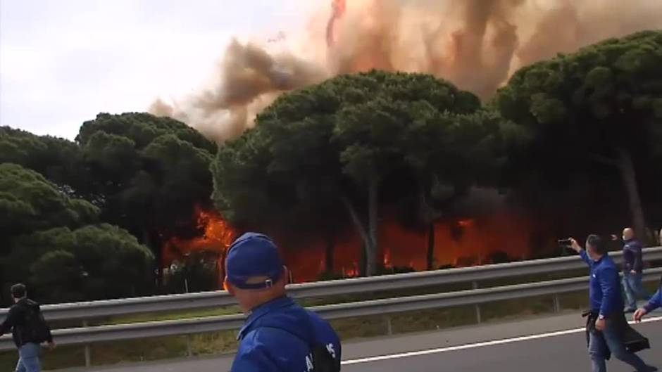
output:
[{"label": "large central umbrella pine with broad canopy and slender trunk", "polygon": [[344,212],[373,275],[382,262],[380,203],[411,193],[412,184],[425,195],[439,184],[473,184],[477,165],[494,158],[494,118],[473,94],[430,75],[337,77],[278,98],[254,129],[221,147],[213,199],[233,222],[249,224],[325,229]]}]

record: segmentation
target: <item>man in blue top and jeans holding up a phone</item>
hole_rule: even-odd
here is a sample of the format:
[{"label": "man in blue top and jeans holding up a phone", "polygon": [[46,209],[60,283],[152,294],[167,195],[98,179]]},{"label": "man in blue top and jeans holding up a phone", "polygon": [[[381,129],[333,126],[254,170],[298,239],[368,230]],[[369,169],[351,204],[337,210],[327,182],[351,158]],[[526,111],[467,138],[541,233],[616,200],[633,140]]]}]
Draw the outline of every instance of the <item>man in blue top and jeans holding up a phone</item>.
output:
[{"label": "man in blue top and jeans holding up a phone", "polygon": [[637,372],[657,371],[625,347],[623,335],[627,321],[623,314],[618,269],[607,254],[606,242],[597,235],[586,240],[586,250],[570,239],[570,247],[579,253],[591,269],[589,298],[591,312],[587,323],[589,354],[593,372],[606,372],[606,359],[614,357],[634,367]]}]

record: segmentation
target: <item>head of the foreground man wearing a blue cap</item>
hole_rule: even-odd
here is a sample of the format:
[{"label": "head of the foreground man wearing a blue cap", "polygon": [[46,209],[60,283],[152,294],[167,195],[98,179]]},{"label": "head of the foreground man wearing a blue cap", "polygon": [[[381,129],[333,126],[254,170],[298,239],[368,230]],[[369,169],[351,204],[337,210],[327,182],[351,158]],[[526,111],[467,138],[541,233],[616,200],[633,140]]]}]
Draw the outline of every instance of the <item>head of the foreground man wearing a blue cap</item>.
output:
[{"label": "head of the foreground man wearing a blue cap", "polygon": [[225,288],[244,312],[285,295],[287,267],[268,236],[245,233],[235,240],[225,259]]}]

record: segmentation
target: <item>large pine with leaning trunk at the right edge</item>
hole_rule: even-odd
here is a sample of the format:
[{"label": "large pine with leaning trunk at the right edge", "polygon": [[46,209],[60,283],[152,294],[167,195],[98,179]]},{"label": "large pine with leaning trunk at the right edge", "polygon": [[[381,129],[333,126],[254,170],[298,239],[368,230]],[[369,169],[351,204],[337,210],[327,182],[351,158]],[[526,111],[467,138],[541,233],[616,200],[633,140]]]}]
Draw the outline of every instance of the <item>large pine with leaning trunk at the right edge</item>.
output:
[{"label": "large pine with leaning trunk at the right edge", "polygon": [[532,134],[518,172],[552,179],[552,190],[586,177],[585,193],[575,191],[582,198],[601,184],[615,188],[617,176],[643,234],[641,191],[648,199],[659,191],[650,171],[662,155],[661,65],[662,32],[641,32],[518,71],[495,99],[504,117]]}]

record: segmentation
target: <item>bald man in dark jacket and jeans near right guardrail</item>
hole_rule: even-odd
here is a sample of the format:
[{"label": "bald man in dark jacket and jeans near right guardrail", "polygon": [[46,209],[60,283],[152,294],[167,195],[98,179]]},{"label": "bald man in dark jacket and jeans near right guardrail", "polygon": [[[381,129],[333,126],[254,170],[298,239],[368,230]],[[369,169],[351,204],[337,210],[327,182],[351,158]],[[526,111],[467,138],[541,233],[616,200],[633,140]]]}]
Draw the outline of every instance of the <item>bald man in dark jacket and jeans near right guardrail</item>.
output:
[{"label": "bald man in dark jacket and jeans near right guardrail", "polygon": [[628,227],[623,230],[623,288],[627,297],[625,312],[637,310],[637,298],[649,300],[651,295],[644,289],[642,271],[644,259],[643,245],[635,239],[635,231]]}]

